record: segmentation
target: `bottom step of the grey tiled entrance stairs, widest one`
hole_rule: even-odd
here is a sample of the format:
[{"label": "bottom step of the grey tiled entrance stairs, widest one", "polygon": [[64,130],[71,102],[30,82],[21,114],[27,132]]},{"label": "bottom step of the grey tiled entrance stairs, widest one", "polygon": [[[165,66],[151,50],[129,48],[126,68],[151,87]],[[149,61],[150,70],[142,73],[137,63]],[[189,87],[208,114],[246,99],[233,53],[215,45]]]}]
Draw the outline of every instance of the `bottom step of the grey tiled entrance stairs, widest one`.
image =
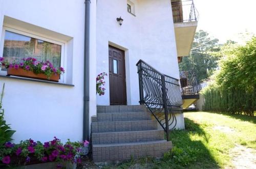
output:
[{"label": "bottom step of the grey tiled entrance stairs, widest one", "polygon": [[118,143],[93,144],[94,162],[127,160],[131,158],[161,157],[172,149],[172,142],[166,140]]}]

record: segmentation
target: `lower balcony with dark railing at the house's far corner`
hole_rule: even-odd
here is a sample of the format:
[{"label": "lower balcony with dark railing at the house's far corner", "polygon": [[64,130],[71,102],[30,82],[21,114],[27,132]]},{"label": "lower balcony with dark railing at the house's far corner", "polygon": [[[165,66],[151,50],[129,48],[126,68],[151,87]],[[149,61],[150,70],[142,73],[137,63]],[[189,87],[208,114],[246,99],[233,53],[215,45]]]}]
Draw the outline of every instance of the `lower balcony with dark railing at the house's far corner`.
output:
[{"label": "lower balcony with dark railing at the house's far corner", "polygon": [[202,87],[193,71],[180,71],[180,84],[184,101],[182,107],[186,109],[199,99]]}]

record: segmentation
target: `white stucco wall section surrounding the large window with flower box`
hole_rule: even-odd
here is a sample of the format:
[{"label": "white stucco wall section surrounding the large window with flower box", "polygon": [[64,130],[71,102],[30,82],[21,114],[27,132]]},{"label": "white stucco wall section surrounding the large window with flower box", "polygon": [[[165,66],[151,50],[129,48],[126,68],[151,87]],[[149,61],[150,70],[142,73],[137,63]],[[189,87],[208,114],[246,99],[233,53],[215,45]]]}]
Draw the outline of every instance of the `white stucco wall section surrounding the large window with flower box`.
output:
[{"label": "white stucco wall section surrounding the large window with flower box", "polygon": [[[96,114],[96,0],[91,0],[90,116]],[[32,138],[47,141],[82,139],[84,0],[0,0],[0,33],[4,16],[71,37],[65,47],[66,82],[74,87],[0,78],[5,83],[5,118],[16,130],[14,142]],[[22,26],[21,26],[22,27]],[[29,31],[29,30],[28,30]],[[41,33],[41,32],[38,32]],[[1,36],[0,36],[1,38]],[[0,39],[1,41],[2,39]]]}]

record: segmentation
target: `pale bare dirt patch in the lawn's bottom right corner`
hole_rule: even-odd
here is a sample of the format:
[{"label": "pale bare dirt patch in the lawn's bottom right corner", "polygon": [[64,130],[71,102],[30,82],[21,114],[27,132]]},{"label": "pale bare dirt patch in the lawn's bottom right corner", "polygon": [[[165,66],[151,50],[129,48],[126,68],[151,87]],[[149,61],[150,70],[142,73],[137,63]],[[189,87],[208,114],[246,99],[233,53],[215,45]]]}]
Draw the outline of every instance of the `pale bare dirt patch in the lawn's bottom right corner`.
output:
[{"label": "pale bare dirt patch in the lawn's bottom right corner", "polygon": [[237,169],[255,169],[256,168],[256,152],[253,149],[236,145],[230,152],[232,156],[231,168]]}]

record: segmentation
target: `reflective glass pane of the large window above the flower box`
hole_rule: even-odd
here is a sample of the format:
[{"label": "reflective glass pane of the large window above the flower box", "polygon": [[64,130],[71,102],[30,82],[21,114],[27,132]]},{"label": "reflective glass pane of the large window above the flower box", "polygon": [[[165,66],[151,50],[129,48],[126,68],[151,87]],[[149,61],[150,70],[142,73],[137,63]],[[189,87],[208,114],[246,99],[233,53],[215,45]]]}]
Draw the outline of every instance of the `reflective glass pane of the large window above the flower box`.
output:
[{"label": "reflective glass pane of the large window above the flower box", "polygon": [[54,67],[60,67],[61,45],[6,31],[3,57],[9,62],[33,57],[38,61],[49,60]]}]

